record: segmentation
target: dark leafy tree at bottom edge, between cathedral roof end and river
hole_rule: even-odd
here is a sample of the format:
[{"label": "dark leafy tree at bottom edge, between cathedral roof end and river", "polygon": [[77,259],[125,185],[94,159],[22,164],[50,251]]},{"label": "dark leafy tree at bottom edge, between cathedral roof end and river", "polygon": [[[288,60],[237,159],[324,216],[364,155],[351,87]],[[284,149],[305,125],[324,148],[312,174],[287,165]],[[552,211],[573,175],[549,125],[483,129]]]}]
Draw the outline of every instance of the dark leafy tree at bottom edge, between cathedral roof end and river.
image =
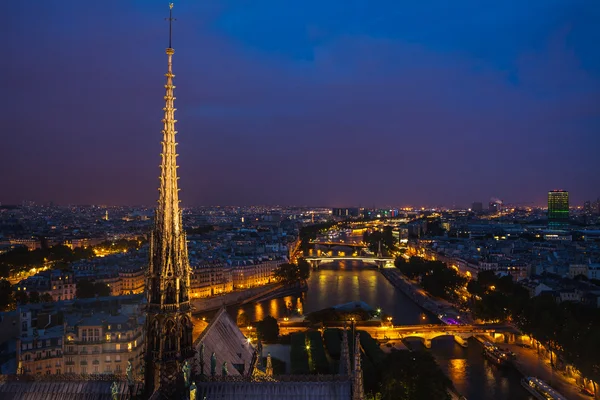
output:
[{"label": "dark leafy tree at bottom edge, between cathedral roof end and river", "polygon": [[383,365],[382,400],[450,399],[452,382],[428,352],[392,351]]}]

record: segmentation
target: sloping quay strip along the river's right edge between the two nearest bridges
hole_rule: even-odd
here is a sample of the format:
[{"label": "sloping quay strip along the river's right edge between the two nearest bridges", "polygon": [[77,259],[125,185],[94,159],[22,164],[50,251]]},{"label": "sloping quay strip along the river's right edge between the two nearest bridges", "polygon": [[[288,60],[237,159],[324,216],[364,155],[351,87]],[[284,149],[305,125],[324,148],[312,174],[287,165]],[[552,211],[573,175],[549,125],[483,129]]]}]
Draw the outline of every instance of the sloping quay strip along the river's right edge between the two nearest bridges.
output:
[{"label": "sloping quay strip along the river's right edge between the two nearest bridges", "polygon": [[447,324],[448,319],[460,320],[471,323],[469,316],[458,312],[454,306],[444,300],[434,299],[416,283],[411,282],[397,268],[380,269],[381,274],[396,288],[409,297],[415,304],[425,311],[435,315],[440,321]]}]

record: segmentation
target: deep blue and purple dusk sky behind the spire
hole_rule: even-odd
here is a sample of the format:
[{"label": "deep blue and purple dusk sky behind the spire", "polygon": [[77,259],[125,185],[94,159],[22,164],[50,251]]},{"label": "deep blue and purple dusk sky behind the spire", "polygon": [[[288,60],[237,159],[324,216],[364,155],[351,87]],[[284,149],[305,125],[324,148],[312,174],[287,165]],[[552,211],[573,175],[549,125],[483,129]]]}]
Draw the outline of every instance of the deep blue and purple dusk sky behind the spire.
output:
[{"label": "deep blue and purple dusk sky behind the spire", "polygon": [[[5,5],[0,202],[153,204],[167,4]],[[185,0],[174,14],[184,205],[600,196],[598,0]]]}]

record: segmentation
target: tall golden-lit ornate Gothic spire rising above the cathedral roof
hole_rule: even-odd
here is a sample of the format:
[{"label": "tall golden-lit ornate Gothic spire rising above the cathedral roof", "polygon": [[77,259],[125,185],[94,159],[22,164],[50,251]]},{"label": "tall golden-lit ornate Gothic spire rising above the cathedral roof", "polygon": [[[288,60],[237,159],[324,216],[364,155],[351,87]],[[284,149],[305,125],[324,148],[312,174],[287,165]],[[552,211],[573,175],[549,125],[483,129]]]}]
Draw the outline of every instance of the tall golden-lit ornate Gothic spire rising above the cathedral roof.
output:
[{"label": "tall golden-lit ornate Gothic spire rising above the cathedral roof", "polygon": [[166,398],[181,398],[181,367],[193,356],[190,309],[190,266],[185,232],[179,209],[175,108],[173,101],[171,47],[172,9],[169,11],[168,70],[165,76],[165,108],[160,166],[158,206],[150,236],[150,263],[146,290],[146,390],[159,391]]}]

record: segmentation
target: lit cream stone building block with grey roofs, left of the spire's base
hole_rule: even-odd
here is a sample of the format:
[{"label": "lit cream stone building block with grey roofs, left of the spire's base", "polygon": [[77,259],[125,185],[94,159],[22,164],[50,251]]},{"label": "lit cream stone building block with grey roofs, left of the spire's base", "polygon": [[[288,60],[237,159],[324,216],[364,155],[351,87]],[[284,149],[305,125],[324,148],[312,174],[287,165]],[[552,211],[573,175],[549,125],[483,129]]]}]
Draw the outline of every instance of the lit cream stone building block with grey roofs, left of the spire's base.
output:
[{"label": "lit cream stone building block with grey roofs, left of the spire's base", "polygon": [[118,375],[128,362],[141,365],[144,323],[137,312],[62,314],[46,305],[19,312],[18,374]]}]

